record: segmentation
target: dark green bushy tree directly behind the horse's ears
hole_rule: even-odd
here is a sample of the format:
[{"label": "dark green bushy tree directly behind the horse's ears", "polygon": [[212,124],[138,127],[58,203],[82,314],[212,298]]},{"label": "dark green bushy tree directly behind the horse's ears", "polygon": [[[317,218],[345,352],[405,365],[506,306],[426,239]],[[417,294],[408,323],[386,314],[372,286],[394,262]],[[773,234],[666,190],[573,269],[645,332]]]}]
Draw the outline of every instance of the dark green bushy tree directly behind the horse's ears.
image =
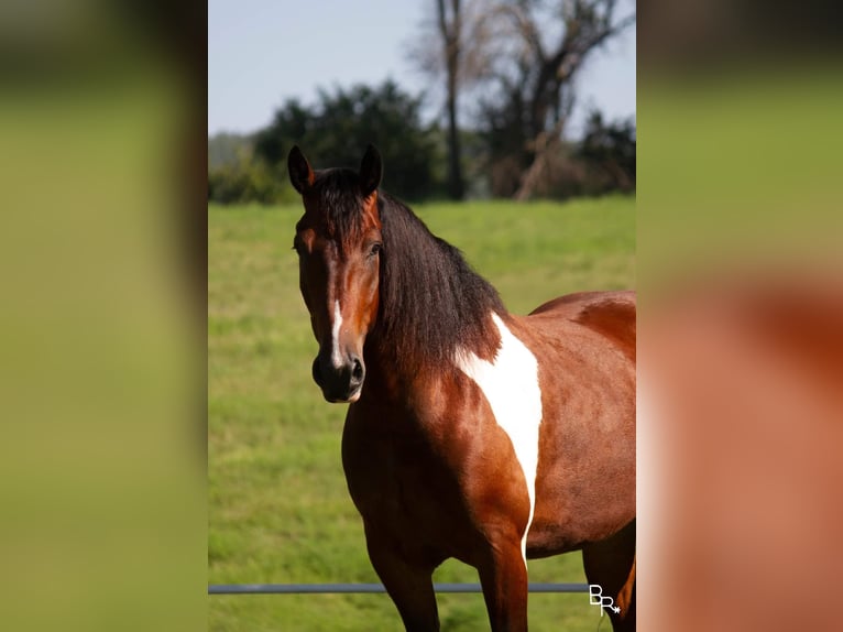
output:
[{"label": "dark green bushy tree directly behind the horse's ears", "polygon": [[269,164],[286,161],[299,144],[315,166],[352,166],[368,143],[377,146],[385,171],[383,186],[409,199],[429,197],[434,188],[435,143],[420,122],[420,99],[386,80],[377,87],[355,85],[319,91],[304,107],[288,100],[272,123],[255,137],[254,152]]}]

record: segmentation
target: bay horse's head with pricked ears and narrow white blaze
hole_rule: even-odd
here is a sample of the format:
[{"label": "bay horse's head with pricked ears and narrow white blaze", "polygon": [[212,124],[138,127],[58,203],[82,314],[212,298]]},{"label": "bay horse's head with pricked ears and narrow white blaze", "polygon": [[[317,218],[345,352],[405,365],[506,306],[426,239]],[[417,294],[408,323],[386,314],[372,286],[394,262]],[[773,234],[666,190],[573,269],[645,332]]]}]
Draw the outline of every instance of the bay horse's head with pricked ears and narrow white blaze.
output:
[{"label": "bay horse's head with pricked ears and narrow white blaze", "polygon": [[377,317],[381,155],[369,145],[357,172],[314,172],[294,146],[287,166],[305,206],[294,248],[319,344],[314,380],[329,402],[355,402],[365,379],[363,344]]}]

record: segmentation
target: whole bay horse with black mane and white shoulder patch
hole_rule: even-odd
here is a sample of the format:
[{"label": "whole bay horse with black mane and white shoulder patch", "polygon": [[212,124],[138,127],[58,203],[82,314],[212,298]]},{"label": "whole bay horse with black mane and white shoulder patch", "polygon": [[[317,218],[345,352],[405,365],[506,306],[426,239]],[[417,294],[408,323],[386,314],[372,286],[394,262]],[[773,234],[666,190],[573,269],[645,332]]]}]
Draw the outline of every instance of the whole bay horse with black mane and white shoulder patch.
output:
[{"label": "whole bay horse with black mane and white shoulder patch", "polygon": [[459,250],[358,171],[287,159],[294,248],[319,351],[350,403],[342,465],[372,565],[407,630],[438,630],[431,575],[477,568],[492,630],[527,629],[526,559],[581,549],[635,629],[635,294],[510,314]]}]

